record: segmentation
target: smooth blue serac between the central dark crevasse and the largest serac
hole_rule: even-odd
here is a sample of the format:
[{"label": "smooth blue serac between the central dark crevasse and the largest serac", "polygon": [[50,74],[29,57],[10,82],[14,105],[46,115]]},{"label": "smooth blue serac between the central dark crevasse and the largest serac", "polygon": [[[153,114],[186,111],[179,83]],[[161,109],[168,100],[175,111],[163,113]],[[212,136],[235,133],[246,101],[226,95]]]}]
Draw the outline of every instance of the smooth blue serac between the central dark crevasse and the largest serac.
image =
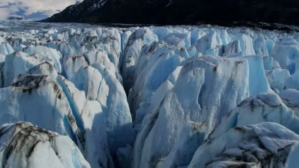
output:
[{"label": "smooth blue serac between the central dark crevasse and the largest serac", "polygon": [[185,48],[174,47],[165,42],[153,42],[140,54],[132,77],[135,84],[128,96],[133,117],[139,104],[147,102],[177,66],[188,58]]}]

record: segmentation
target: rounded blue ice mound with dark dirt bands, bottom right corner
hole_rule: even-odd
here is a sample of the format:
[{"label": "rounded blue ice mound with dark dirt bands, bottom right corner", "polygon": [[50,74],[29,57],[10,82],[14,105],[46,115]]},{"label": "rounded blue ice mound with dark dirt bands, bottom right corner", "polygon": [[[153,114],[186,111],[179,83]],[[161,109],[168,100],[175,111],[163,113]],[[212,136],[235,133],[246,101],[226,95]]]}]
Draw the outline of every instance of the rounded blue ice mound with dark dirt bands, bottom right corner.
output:
[{"label": "rounded blue ice mound with dark dirt bands, bottom right corner", "polygon": [[277,123],[235,127],[202,144],[188,168],[283,168],[298,140],[297,134]]}]

